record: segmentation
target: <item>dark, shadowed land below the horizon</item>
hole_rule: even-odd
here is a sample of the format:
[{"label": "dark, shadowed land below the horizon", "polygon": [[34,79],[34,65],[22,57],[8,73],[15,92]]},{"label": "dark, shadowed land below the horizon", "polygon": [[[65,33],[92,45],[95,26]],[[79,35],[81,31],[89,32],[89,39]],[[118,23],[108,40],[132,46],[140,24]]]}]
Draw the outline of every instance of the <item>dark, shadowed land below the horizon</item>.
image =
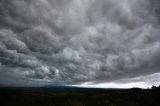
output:
[{"label": "dark, shadowed land below the horizon", "polygon": [[0,106],[160,106],[160,89],[1,88]]}]

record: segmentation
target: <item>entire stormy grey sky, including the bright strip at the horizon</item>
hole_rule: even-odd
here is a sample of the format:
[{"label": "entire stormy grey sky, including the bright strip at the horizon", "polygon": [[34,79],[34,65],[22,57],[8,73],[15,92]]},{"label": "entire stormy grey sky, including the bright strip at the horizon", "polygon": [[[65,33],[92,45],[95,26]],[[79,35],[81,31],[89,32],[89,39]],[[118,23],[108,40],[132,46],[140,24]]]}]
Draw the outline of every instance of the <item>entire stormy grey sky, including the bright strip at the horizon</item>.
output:
[{"label": "entire stormy grey sky, including the bright strip at the horizon", "polygon": [[159,0],[0,0],[0,86],[160,85]]}]

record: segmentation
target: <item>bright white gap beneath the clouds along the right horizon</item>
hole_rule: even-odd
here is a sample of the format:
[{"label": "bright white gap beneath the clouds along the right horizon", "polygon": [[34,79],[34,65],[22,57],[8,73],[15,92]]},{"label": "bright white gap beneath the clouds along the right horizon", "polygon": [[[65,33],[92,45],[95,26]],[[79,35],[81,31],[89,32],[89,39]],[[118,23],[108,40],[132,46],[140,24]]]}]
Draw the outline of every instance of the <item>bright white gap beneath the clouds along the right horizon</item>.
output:
[{"label": "bright white gap beneath the clouds along the right horizon", "polygon": [[84,88],[151,88],[152,85],[160,85],[160,73],[154,73],[146,76],[139,76],[136,78],[128,78],[116,80],[108,83],[94,83],[85,82],[79,85],[70,85],[73,87],[84,87]]}]

